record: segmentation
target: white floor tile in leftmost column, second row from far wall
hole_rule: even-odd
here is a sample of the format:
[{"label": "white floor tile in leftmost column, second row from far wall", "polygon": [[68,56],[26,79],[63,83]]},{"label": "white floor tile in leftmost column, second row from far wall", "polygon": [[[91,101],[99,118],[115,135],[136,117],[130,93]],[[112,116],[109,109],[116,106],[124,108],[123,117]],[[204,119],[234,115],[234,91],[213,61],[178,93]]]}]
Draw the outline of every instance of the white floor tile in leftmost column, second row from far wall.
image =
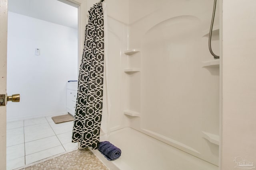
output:
[{"label": "white floor tile in leftmost column, second row from far wall", "polygon": [[19,127],[6,131],[6,147],[24,143],[24,129]]}]

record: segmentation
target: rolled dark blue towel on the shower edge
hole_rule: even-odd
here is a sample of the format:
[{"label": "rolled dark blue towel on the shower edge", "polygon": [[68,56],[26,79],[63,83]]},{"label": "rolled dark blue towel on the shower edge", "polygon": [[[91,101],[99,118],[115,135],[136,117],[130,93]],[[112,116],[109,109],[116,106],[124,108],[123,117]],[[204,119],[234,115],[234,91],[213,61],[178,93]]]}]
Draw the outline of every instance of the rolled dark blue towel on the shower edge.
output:
[{"label": "rolled dark blue towel on the shower edge", "polygon": [[100,142],[98,150],[107,160],[116,160],[121,156],[121,149],[108,141]]}]

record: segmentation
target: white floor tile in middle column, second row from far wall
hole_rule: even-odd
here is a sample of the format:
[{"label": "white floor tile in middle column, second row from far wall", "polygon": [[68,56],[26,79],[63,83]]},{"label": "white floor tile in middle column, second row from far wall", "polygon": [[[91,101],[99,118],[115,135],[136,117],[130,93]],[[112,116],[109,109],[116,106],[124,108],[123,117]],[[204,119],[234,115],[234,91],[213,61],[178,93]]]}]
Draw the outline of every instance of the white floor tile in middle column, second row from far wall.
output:
[{"label": "white floor tile in middle column, second row from far wall", "polygon": [[54,135],[55,133],[48,123],[24,127],[25,143]]}]

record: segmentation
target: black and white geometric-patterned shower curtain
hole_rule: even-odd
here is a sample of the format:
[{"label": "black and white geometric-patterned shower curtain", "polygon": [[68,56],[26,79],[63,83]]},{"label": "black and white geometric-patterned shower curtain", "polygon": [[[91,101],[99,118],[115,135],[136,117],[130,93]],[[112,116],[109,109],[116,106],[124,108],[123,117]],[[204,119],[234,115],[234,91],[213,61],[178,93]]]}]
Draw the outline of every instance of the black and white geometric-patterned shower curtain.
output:
[{"label": "black and white geometric-patterned shower curtain", "polygon": [[102,2],[89,10],[84,53],[78,77],[78,95],[72,142],[98,149],[103,102],[104,23]]}]

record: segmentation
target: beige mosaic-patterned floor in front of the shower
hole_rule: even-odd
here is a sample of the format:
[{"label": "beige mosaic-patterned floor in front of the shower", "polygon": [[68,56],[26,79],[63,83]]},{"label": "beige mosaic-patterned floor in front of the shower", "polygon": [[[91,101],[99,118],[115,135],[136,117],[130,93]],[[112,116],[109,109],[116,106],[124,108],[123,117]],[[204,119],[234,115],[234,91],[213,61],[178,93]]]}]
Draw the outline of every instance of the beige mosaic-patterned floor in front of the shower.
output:
[{"label": "beige mosaic-patterned floor in front of the shower", "polygon": [[74,150],[20,170],[108,170],[89,150]]}]

